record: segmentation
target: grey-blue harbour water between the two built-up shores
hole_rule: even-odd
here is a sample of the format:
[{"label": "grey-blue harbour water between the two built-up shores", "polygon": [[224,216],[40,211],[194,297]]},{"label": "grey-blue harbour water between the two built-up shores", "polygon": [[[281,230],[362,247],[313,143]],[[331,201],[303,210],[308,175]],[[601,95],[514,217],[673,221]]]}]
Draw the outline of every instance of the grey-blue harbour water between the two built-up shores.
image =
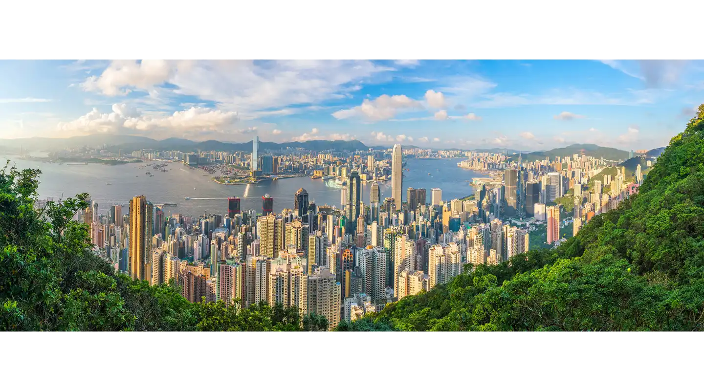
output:
[{"label": "grey-blue harbour water between the two built-up shores", "polygon": [[[227,197],[241,198],[242,210],[260,210],[262,196],[269,194],[274,198],[274,210],[294,207],[294,193],[305,188],[309,200],[320,205],[341,207],[341,189],[329,187],[322,179],[310,177],[282,178],[264,181],[258,184],[223,185],[215,183],[205,172],[190,169],[182,163],[171,162],[167,172],[143,167],[146,163],[126,165],[69,165],[16,157],[0,157],[0,169],[10,159],[18,169],[39,168],[39,198],[67,198],[78,193],[89,193],[91,199],[106,211],[110,205],[129,205],[134,196],[144,194],[153,204],[173,203],[165,206],[167,214],[181,213],[186,216],[203,214],[226,214]],[[470,186],[472,178],[486,177],[470,169],[457,166],[460,159],[408,159],[403,169],[403,197],[406,188],[426,188],[427,202],[430,202],[431,188],[441,188],[443,200],[463,198],[474,193]],[[151,162],[163,163],[163,162]],[[143,168],[140,168],[143,167]],[[153,177],[146,175],[151,172]],[[109,183],[109,185],[108,185]],[[381,182],[379,190],[382,200],[391,196],[391,181]],[[370,183],[363,184],[363,198],[369,203]],[[189,200],[185,200],[189,197]],[[125,210],[123,208],[123,210]],[[126,212],[126,210],[125,210]]]}]

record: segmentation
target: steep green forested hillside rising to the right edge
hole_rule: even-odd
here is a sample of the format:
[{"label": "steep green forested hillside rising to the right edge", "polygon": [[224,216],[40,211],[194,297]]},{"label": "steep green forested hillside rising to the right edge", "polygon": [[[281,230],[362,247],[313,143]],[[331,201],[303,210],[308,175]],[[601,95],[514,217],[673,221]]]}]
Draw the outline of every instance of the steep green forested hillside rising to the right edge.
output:
[{"label": "steep green forested hillside rising to the right edge", "polygon": [[639,188],[557,250],[478,266],[338,331],[703,331],[704,105]]}]

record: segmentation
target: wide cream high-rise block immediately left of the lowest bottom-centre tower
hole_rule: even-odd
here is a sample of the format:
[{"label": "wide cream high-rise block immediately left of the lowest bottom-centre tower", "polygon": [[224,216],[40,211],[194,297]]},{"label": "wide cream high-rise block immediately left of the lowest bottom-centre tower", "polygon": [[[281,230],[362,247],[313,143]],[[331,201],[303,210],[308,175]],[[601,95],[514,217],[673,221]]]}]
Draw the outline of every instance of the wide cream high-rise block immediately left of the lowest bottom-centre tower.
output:
[{"label": "wide cream high-rise block immediately left of the lowest bottom-centre tower", "polygon": [[291,262],[272,264],[268,280],[269,305],[274,306],[280,302],[284,307],[297,307],[301,316],[306,314],[308,278],[303,273],[301,264]]}]

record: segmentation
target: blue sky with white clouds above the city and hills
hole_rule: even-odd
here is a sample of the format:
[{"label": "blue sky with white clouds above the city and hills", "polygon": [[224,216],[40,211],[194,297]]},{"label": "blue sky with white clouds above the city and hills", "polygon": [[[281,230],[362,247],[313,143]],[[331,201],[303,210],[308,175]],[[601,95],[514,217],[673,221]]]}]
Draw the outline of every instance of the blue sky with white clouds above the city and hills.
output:
[{"label": "blue sky with white clouds above the city and hills", "polygon": [[704,60],[0,60],[0,139],[666,146]]}]

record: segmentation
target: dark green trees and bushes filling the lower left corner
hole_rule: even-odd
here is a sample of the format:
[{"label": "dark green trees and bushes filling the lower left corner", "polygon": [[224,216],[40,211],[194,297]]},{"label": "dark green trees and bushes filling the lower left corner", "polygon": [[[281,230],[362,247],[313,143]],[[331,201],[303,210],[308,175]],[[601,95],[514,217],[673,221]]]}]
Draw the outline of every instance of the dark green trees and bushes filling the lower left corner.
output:
[{"label": "dark green trees and bushes filling the lower left corner", "polygon": [[171,286],[115,274],[72,221],[87,194],[35,210],[37,169],[0,170],[0,331],[327,331],[322,316],[265,302],[191,304]]}]

